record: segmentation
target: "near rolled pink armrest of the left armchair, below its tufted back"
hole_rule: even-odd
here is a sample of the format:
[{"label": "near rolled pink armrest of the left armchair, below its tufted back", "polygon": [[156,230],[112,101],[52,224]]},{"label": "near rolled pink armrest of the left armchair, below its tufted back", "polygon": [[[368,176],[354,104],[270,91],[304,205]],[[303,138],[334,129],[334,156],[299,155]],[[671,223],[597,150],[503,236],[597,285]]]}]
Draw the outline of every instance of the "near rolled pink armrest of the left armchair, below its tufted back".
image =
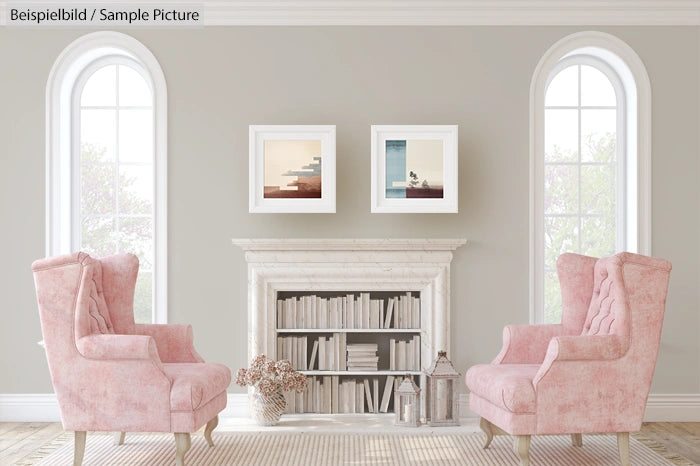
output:
[{"label": "near rolled pink armrest of the left armchair, below its tufted back", "polygon": [[141,335],[93,334],[76,341],[80,354],[87,359],[144,360],[160,365],[153,338]]}]

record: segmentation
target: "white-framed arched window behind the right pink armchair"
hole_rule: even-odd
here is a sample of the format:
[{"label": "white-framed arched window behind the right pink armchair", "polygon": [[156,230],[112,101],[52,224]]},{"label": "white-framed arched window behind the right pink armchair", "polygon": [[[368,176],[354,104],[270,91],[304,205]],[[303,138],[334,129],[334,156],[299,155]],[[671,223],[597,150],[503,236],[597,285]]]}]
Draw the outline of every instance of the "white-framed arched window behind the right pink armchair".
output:
[{"label": "white-framed arched window behind the right pink armchair", "polygon": [[641,60],[613,36],[574,34],[540,61],[531,86],[531,320],[561,319],[562,253],[650,253],[650,105]]}]

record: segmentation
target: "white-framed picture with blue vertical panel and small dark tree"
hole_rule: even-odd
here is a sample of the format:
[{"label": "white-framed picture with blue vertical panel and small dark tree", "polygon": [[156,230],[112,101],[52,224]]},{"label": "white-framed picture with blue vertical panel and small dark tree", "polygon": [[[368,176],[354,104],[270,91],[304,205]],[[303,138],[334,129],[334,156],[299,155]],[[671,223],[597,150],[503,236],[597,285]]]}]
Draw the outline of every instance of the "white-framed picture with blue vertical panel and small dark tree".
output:
[{"label": "white-framed picture with blue vertical panel and small dark tree", "polygon": [[372,212],[457,213],[457,125],[372,125]]}]

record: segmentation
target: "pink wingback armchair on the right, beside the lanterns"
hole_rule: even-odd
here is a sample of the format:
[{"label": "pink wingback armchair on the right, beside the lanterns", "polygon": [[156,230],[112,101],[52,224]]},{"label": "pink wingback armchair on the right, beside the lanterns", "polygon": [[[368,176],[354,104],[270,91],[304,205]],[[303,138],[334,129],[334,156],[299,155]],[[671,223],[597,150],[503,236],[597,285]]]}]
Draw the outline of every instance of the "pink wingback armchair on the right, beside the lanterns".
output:
[{"label": "pink wingback armchair on the right, beside the lanterns", "polygon": [[509,325],[491,364],[466,374],[469,407],[494,434],[517,436],[529,464],[530,436],[617,433],[629,465],[629,433],[642,425],[661,338],[671,264],[631,253],[557,261],[562,323]]}]

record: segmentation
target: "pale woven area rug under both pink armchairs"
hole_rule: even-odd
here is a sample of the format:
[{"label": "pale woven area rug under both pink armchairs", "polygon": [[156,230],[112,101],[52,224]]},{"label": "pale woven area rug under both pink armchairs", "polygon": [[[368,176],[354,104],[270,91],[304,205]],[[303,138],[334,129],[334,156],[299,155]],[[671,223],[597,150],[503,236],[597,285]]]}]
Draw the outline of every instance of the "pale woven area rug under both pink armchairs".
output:
[{"label": "pale woven area rug under both pink armchairs", "polygon": [[[357,433],[263,433],[219,432],[216,446],[209,448],[201,435],[192,436],[185,456],[195,465],[518,465],[510,437],[495,437],[488,450],[481,448],[480,434],[357,434]],[[66,465],[73,459],[72,435],[62,445],[32,462],[35,465]],[[65,442],[65,443],[64,443]],[[633,465],[670,465],[639,441],[630,439]],[[108,435],[88,434],[84,466],[172,465],[172,435],[127,434],[126,443],[114,445]],[[583,448],[573,447],[569,436],[533,437],[533,466],[619,465],[614,435],[584,435]]]}]

